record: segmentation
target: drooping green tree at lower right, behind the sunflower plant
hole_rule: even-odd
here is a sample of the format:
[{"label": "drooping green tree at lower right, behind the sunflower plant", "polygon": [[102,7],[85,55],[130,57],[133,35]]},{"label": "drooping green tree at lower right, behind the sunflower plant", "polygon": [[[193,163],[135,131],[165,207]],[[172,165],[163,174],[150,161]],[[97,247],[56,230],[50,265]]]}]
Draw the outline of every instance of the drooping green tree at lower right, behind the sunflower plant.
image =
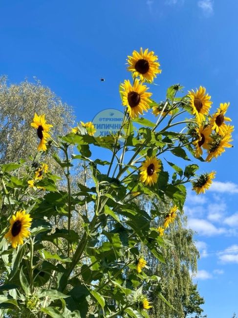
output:
[{"label": "drooping green tree at lower right, behind the sunflower plant", "polygon": [[[191,273],[196,272],[199,252],[195,247],[194,232],[186,228],[186,224],[186,217],[177,215],[174,224],[165,232],[164,238],[171,242],[171,246],[162,251],[165,263],[158,262],[151,253],[148,255],[152,273],[162,277],[162,295],[172,305],[168,306],[161,297],[155,297],[154,318],[206,317],[201,316],[203,309],[200,306],[204,304],[204,299],[191,278]],[[162,224],[156,224],[156,227],[159,225]]]}]

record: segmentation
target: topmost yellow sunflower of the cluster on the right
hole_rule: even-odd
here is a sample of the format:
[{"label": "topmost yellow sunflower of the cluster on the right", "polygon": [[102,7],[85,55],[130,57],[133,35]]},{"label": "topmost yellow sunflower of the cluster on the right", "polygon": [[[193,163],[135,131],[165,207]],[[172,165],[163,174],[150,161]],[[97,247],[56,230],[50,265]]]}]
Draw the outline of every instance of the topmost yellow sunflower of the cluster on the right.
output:
[{"label": "topmost yellow sunflower of the cluster on the right", "polygon": [[189,91],[191,113],[195,115],[197,123],[200,125],[205,120],[205,115],[209,113],[212,102],[211,96],[206,94],[205,87],[199,87],[199,90]]}]

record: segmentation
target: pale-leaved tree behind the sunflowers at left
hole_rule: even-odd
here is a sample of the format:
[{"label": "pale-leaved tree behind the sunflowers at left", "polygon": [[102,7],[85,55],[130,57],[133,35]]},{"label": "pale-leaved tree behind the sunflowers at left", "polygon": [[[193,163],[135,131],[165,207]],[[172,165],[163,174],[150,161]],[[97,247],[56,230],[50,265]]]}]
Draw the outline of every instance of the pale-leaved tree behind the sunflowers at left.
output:
[{"label": "pale-leaved tree behind the sunflowers at left", "polygon": [[[35,156],[36,131],[30,123],[34,113],[45,114],[47,122],[53,125],[52,137],[69,132],[74,115],[72,108],[55,95],[39,80],[27,80],[8,85],[7,77],[0,77],[0,163],[28,160]],[[47,156],[46,161],[56,166]]]}]

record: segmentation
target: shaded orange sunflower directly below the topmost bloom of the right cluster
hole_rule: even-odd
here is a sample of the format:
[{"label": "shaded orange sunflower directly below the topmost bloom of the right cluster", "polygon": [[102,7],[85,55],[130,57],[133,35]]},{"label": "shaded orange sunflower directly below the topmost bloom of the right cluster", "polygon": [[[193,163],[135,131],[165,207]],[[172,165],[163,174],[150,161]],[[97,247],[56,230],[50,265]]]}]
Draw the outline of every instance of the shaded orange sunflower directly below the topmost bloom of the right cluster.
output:
[{"label": "shaded orange sunflower directly below the topmost bloom of the right cluster", "polygon": [[212,134],[211,127],[202,127],[195,129],[195,132],[197,134],[197,139],[193,142],[195,145],[195,157],[199,158],[202,155],[202,148],[209,149],[209,144],[212,142],[212,137],[210,135]]}]

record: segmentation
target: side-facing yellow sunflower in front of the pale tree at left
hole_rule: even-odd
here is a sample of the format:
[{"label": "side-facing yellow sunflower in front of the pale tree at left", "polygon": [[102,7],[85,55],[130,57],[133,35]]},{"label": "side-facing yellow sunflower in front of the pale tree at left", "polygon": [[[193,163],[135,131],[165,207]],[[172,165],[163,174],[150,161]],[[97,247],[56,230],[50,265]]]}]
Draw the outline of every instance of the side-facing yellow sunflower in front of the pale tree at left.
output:
[{"label": "side-facing yellow sunflower in front of the pale tree at left", "polygon": [[38,151],[41,151],[41,150],[45,151],[47,138],[50,137],[49,131],[50,131],[50,128],[53,126],[50,124],[46,124],[44,114],[38,116],[38,114],[36,113],[34,115],[31,126],[37,129],[37,136],[41,139],[37,148]]}]

